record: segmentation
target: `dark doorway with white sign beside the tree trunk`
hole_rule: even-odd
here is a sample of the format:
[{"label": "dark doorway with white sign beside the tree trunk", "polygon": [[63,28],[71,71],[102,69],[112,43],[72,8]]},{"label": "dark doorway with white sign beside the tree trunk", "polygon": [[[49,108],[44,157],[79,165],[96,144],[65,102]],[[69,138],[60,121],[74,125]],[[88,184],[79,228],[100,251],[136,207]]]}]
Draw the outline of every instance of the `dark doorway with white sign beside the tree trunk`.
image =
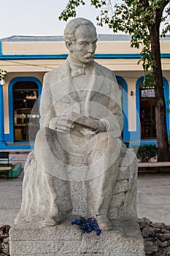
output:
[{"label": "dark doorway with white sign beside the tree trunk", "polygon": [[155,87],[147,88],[140,83],[141,138],[156,138],[155,129]]}]

